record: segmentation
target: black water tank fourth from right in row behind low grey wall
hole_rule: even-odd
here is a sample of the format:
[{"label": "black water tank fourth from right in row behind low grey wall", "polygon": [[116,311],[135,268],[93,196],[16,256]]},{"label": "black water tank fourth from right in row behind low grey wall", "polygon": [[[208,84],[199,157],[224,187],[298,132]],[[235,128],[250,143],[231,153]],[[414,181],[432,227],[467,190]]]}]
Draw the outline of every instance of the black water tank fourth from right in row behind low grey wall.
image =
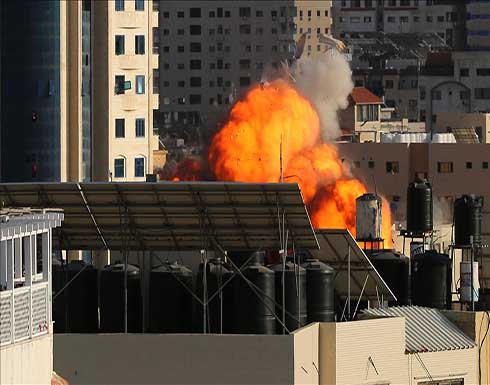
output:
[{"label": "black water tank fourth from right in row behind low grey wall", "polygon": [[[203,271],[204,264],[201,263],[196,280],[196,295],[201,300],[204,299]],[[220,258],[210,260],[206,264],[206,272],[208,301],[214,296],[208,303],[206,330],[208,333],[230,333],[233,329],[233,282],[229,282],[221,293],[218,293],[218,290],[233,276],[233,273]],[[194,306],[194,318],[195,331],[202,333],[203,307],[197,302]]]}]

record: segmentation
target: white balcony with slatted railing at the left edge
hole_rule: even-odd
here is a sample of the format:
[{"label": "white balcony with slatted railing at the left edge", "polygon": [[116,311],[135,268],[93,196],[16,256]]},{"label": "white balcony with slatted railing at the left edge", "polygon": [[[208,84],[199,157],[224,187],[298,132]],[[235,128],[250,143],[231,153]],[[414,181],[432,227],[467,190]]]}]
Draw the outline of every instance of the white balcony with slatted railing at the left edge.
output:
[{"label": "white balcony with slatted railing at the left edge", "polygon": [[51,229],[62,220],[59,212],[0,215],[1,347],[49,333]]}]

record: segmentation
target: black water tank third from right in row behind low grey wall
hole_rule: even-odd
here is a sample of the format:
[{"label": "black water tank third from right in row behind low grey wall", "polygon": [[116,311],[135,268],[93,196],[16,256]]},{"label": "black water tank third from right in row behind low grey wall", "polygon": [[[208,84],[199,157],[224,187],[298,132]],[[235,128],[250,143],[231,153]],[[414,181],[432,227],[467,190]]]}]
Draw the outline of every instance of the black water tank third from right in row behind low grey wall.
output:
[{"label": "black water tank third from right in row behind low grey wall", "polygon": [[234,279],[234,332],[274,334],[274,272],[255,262],[245,267],[242,273],[253,289],[241,276]]}]

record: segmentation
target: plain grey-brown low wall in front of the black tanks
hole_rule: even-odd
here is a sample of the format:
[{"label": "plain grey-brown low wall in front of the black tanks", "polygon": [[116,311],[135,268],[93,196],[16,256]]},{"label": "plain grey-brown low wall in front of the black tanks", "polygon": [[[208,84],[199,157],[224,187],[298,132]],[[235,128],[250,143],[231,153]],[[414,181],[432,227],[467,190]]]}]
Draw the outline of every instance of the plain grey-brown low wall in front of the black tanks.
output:
[{"label": "plain grey-brown low wall in front of the black tanks", "polygon": [[76,384],[294,383],[294,337],[57,334],[54,368]]}]

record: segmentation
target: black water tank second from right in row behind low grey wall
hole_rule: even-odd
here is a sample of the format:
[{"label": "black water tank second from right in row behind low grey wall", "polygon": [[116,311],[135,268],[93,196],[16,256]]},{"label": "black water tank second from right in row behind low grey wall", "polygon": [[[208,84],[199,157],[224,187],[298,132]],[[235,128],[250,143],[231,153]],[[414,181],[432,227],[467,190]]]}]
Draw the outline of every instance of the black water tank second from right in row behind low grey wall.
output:
[{"label": "black water tank second from right in row behind low grey wall", "polygon": [[[282,279],[284,271],[284,302],[286,308],[286,327],[290,332],[306,325],[306,270],[301,266],[287,261],[285,269],[282,263],[271,266],[275,275],[276,303],[283,306]],[[276,315],[281,318],[283,310],[276,306]],[[276,322],[276,331],[282,334],[283,327]]]}]

